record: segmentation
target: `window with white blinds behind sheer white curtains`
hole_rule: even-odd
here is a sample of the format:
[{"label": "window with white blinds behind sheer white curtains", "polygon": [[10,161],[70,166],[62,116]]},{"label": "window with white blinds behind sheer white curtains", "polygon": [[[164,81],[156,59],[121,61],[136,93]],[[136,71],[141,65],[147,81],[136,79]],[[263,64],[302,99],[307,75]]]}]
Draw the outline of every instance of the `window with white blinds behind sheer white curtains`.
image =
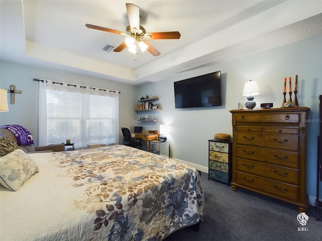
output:
[{"label": "window with white blinds behind sheer white curtains", "polygon": [[75,149],[118,143],[118,91],[55,82],[39,85],[39,145],[66,139]]}]

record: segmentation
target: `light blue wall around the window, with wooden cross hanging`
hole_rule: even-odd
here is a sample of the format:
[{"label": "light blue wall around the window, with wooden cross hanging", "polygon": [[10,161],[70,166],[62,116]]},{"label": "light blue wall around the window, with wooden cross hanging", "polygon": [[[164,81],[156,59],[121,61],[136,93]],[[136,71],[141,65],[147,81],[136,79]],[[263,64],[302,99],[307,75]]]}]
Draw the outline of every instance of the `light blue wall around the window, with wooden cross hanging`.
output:
[{"label": "light blue wall around the window, with wooden cross hanging", "polygon": [[[0,112],[0,124],[18,124],[26,127],[32,133],[36,143],[38,140],[38,81],[33,81],[34,78],[119,90],[121,91],[119,127],[133,128],[136,125],[134,115],[136,102],[133,100],[137,98],[137,87],[133,85],[6,61],[1,61],[0,70],[0,88],[9,89],[10,85],[14,84],[17,90],[22,90],[22,94],[16,94],[15,104],[10,104],[10,94],[8,94],[10,111]],[[122,143],[121,131],[119,142]]]}]

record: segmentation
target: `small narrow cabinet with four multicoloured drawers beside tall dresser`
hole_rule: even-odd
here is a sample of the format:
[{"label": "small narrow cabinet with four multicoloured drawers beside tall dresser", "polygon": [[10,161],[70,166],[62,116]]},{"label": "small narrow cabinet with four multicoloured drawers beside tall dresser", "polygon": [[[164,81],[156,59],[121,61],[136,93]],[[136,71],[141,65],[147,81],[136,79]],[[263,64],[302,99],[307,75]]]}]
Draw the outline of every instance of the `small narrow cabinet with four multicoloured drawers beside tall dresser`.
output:
[{"label": "small narrow cabinet with four multicoloured drawers beside tall dresser", "polygon": [[230,184],[231,181],[231,149],[232,140],[208,140],[208,180],[212,179]]}]

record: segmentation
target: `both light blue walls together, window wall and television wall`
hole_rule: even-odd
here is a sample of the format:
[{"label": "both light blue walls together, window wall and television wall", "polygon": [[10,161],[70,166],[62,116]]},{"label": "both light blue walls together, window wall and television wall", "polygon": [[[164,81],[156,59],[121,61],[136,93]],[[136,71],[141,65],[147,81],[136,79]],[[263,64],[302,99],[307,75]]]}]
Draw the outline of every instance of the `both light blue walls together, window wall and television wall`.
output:
[{"label": "both light blue walls together, window wall and television wall", "polygon": [[[322,36],[289,44],[273,50],[258,53],[227,63],[204,69],[186,71],[170,79],[135,87],[79,74],[53,69],[37,68],[2,61],[0,87],[10,88],[15,84],[22,90],[16,94],[16,103],[9,104],[9,112],[0,113],[0,124],[19,124],[29,129],[34,138],[38,136],[38,82],[33,78],[50,79],[69,83],[89,84],[102,88],[117,89],[120,94],[120,127],[143,126],[145,130],[159,130],[160,124],[170,125],[171,157],[208,167],[208,140],[215,133],[232,134],[230,109],[236,109],[238,102],[245,102],[241,96],[244,83],[256,80],[260,95],[255,96],[259,104],[273,102],[274,107],[282,103],[284,77],[298,75],[298,99],[300,106],[310,107],[307,119],[307,193],[315,196],[316,189],[316,138],[318,135],[318,95],[322,94]],[[220,70],[222,74],[222,106],[213,108],[175,109],[173,82],[204,73]],[[293,82],[294,83],[294,82]],[[159,118],[158,123],[137,123],[144,114],[135,113],[136,100],[141,96],[157,95],[162,111],[148,113]],[[8,95],[9,99],[9,95]],[[315,122],[314,122],[315,121]],[[35,135],[36,134],[36,135]],[[35,137],[36,136],[36,137]],[[120,138],[122,135],[120,134]],[[121,139],[120,139],[121,142]],[[322,186],[322,184],[320,185]],[[320,190],[322,193],[322,188]]]}]

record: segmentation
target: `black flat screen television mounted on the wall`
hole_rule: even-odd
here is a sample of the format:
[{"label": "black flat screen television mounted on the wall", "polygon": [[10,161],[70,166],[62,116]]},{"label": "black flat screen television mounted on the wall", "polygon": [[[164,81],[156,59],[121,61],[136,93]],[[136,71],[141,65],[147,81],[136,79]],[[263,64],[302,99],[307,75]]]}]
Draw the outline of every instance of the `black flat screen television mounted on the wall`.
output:
[{"label": "black flat screen television mounted on the wall", "polygon": [[221,105],[220,71],[174,82],[176,108]]}]

